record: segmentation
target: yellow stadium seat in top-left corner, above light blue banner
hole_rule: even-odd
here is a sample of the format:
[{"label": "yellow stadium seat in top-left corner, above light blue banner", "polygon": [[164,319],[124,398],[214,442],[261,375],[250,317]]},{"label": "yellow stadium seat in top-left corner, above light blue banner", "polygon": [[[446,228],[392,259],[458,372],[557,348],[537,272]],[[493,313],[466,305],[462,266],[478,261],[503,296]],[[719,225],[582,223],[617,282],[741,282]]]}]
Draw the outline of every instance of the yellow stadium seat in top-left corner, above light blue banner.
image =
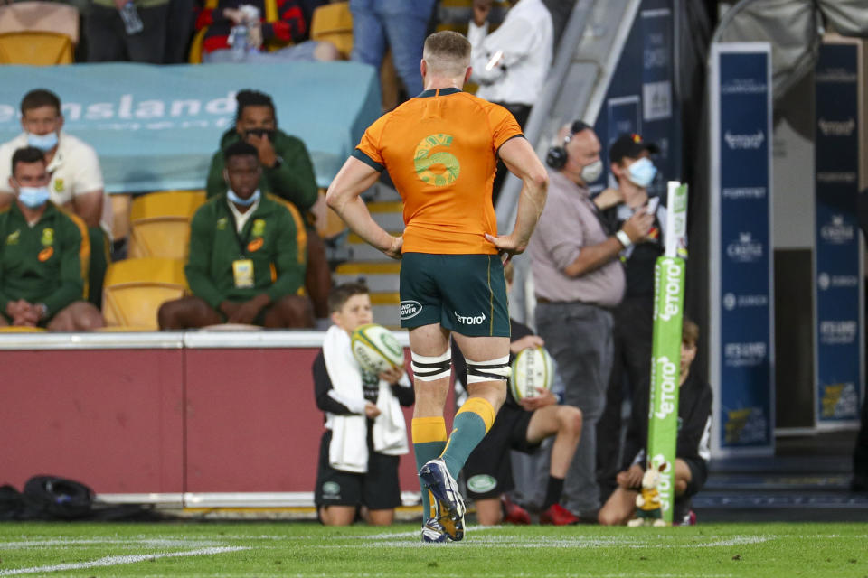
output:
[{"label": "yellow stadium seat in top-left corner, above light blue banner", "polygon": [[0,64],[70,64],[79,42],[79,11],[55,2],[0,6]]}]

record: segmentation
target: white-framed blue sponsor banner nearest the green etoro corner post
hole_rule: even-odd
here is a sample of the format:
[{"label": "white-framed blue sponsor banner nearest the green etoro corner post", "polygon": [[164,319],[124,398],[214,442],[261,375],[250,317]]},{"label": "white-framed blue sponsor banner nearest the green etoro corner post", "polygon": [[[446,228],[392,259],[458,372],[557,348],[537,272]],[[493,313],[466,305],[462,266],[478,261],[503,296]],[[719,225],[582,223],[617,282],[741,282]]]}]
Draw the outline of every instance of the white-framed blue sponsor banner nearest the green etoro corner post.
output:
[{"label": "white-framed blue sponsor banner nearest the green etoro corner post", "polygon": [[771,49],[712,47],[712,452],[774,452]]}]

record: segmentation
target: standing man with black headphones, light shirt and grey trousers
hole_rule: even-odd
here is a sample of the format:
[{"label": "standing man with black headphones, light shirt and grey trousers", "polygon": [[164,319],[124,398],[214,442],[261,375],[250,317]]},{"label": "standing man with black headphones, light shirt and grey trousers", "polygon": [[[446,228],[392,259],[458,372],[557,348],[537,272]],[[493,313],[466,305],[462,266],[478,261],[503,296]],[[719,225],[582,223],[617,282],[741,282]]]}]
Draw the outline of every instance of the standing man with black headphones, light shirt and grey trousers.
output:
[{"label": "standing man with black headphones, light shirt and grey trousers", "polygon": [[581,443],[564,485],[565,506],[596,522],[597,422],[612,366],[612,309],[626,283],[618,255],[646,237],[654,217],[637,211],[609,235],[590,200],[589,185],[603,171],[597,135],[577,120],[561,127],[557,142],[546,155],[549,196],[528,252],[537,331],[557,361],[564,403],[584,415]]}]

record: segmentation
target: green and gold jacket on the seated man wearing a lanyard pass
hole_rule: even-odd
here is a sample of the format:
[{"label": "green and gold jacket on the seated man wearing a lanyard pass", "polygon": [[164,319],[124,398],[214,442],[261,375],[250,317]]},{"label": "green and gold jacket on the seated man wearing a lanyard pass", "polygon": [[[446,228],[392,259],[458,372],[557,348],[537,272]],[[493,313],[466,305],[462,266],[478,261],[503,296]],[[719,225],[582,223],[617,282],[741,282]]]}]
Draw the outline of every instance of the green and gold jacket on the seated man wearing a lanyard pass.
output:
[{"label": "green and gold jacket on the seated man wearing a lanyard pass", "polygon": [[[193,215],[184,273],[193,294],[214,309],[223,301],[241,303],[263,293],[275,302],[304,294],[306,258],[307,235],[293,205],[262,195],[239,233],[223,193]],[[250,283],[237,286],[236,262],[252,266]]]}]

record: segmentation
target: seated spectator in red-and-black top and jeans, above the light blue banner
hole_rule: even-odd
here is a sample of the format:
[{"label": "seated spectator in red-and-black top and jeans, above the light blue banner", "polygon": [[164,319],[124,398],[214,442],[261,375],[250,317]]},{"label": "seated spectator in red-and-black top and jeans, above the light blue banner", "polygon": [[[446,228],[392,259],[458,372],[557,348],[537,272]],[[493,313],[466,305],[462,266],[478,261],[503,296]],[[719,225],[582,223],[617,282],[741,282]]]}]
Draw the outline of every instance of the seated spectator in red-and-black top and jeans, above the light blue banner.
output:
[{"label": "seated spectator in red-and-black top and jeans, above the light blue banner", "polygon": [[[202,61],[286,62],[334,61],[340,54],[331,42],[307,39],[305,13],[298,0],[277,0],[277,17],[269,21],[266,0],[220,0],[196,19],[196,30],[207,28]],[[233,50],[236,26],[247,29],[247,49]]]}]

